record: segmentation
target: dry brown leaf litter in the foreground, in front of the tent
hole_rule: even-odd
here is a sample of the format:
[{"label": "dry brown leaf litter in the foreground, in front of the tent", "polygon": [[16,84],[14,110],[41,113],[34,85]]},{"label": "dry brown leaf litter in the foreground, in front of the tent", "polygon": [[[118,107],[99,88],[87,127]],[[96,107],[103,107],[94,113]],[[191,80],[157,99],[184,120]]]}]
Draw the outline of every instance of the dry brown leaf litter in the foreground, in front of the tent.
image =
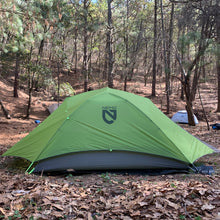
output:
[{"label": "dry brown leaf litter in the foreground, in front of the tent", "polygon": [[220,217],[218,174],[149,176],[103,172],[40,176],[0,169],[0,182],[1,219]]}]

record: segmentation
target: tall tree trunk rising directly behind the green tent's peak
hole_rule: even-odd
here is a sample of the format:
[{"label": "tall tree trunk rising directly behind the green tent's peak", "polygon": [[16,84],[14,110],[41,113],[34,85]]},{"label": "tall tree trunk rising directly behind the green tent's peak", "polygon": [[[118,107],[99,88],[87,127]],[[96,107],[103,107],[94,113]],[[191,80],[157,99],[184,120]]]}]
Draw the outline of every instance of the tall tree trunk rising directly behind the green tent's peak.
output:
[{"label": "tall tree trunk rising directly behind the green tent's peak", "polygon": [[113,88],[113,52],[112,52],[112,0],[107,0],[108,3],[108,30],[107,30],[107,44],[108,44],[108,87]]}]

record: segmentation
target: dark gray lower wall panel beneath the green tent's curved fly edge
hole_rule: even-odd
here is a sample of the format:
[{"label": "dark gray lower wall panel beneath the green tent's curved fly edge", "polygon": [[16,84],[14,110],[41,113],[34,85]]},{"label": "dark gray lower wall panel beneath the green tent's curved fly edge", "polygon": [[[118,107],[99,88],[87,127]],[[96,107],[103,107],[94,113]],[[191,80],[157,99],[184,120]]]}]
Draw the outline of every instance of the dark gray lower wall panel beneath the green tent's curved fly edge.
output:
[{"label": "dark gray lower wall panel beneath the green tent's curved fly edge", "polygon": [[172,158],[128,152],[90,151],[52,157],[39,161],[34,172],[123,170],[123,169],[187,169],[188,164]]}]

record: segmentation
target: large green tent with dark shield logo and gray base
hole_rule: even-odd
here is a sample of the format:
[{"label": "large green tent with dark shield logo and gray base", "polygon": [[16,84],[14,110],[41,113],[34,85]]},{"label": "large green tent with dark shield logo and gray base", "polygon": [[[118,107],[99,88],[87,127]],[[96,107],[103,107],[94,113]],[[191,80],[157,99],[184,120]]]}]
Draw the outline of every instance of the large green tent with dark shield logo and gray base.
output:
[{"label": "large green tent with dark shield logo and gray base", "polygon": [[103,88],[65,99],[3,156],[26,158],[40,172],[178,169],[210,153],[149,99]]}]

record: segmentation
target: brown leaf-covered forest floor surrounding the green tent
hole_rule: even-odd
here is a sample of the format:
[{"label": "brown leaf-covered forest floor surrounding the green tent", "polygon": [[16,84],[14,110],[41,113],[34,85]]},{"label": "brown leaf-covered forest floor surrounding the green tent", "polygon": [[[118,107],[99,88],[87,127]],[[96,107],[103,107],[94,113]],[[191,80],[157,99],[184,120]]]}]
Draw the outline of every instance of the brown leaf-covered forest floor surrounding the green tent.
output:
[{"label": "brown leaf-covered forest floor surrounding the green tent", "polygon": [[[123,88],[119,82],[116,87]],[[97,88],[98,85],[92,85]],[[152,98],[151,86],[129,83],[128,91],[151,98],[166,111],[164,83],[157,84]],[[216,113],[217,85],[201,83],[201,98],[210,124],[220,121]],[[80,92],[80,87],[76,92]],[[184,109],[180,87],[173,83],[171,117]],[[28,96],[19,91],[13,98],[13,87],[0,81],[0,98],[11,119],[0,111],[0,154],[25,137],[49,114],[46,106],[54,103],[42,93],[35,94],[31,117],[24,119]],[[199,124],[181,125],[191,134],[220,149],[220,131],[207,129],[198,95],[194,102]],[[215,173],[151,176],[140,172],[102,172],[62,174],[56,176],[26,174],[27,163],[21,159],[0,157],[0,219],[220,219],[220,157],[215,153],[199,162],[213,166]]]}]

